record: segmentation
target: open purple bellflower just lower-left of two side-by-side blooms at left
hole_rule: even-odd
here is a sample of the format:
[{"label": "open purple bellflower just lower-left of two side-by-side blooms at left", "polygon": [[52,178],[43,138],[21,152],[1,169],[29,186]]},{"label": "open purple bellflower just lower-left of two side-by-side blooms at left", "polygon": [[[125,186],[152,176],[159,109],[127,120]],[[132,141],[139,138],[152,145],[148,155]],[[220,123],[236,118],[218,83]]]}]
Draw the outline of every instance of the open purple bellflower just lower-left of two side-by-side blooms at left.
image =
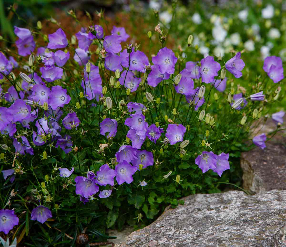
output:
[{"label": "open purple bellflower just lower-left of two side-by-side blooms at left", "polygon": [[17,99],[15,103],[8,108],[8,113],[13,116],[13,122],[21,121],[31,116],[31,106],[26,105],[23,99]]}]

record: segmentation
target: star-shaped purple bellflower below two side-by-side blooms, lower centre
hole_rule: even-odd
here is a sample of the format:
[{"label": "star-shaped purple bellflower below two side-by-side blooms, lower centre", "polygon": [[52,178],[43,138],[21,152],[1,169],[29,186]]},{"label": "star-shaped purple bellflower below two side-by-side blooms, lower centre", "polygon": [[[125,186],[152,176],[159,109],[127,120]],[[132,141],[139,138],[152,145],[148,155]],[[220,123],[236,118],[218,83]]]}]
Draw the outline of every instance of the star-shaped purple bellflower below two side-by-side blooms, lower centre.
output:
[{"label": "star-shaped purple bellflower below two side-by-side blooms, lower centre", "polygon": [[[118,161],[118,160],[117,160]],[[137,171],[136,166],[131,166],[128,162],[125,160],[123,162],[120,162],[115,167],[116,172],[116,181],[118,184],[123,184],[126,182],[127,184],[130,184],[133,181],[133,175]]]}]

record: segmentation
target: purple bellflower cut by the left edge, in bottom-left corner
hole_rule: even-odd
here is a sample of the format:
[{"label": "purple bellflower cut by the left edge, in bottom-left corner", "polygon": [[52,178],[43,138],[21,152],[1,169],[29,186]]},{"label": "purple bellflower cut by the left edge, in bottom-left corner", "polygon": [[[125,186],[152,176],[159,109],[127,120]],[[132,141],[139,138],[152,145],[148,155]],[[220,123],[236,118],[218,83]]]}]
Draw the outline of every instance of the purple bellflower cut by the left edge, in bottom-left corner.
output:
[{"label": "purple bellflower cut by the left edge, in bottom-left corner", "polygon": [[0,232],[8,234],[14,226],[19,224],[19,218],[15,215],[14,210],[0,210]]}]

